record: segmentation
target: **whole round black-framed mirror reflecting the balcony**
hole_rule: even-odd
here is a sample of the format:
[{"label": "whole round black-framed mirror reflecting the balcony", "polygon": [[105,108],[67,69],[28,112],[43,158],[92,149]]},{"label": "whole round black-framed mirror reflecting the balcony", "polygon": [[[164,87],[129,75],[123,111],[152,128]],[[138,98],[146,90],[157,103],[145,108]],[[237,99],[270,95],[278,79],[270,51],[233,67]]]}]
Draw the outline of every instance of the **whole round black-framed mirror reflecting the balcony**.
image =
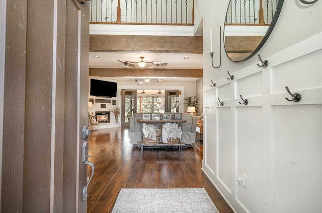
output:
[{"label": "whole round black-framed mirror reflecting the balcony", "polygon": [[275,26],[283,2],[230,0],[224,27],[224,46],[230,60],[248,60],[261,49]]}]

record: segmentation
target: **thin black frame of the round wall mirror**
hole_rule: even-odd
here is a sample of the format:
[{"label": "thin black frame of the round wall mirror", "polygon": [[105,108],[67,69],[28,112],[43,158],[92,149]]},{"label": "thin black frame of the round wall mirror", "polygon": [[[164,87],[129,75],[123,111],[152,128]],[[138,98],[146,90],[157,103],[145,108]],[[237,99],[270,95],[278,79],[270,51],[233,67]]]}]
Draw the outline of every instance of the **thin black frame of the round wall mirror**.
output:
[{"label": "thin black frame of the round wall mirror", "polygon": [[[226,53],[226,55],[227,55],[227,57],[231,60],[231,61],[233,61],[233,62],[243,62],[243,61],[246,61],[246,60],[248,60],[248,59],[250,59],[251,57],[253,57],[262,47],[263,47],[263,45],[265,44],[265,42],[266,42],[266,40],[269,38],[269,36],[271,35],[271,33],[272,33],[272,31],[273,31],[273,28],[275,27],[275,24],[276,24],[276,22],[277,22],[277,20],[278,20],[278,17],[280,16],[280,13],[281,13],[281,11],[282,11],[282,6],[283,6],[283,3],[284,3],[284,0],[279,0],[278,1],[278,5],[277,5],[277,8],[276,8],[276,12],[275,12],[275,14],[274,14],[274,17],[273,17],[273,19],[272,19],[272,22],[271,22],[271,24],[270,24],[270,26],[269,26],[269,28],[268,28],[268,30],[267,30],[267,32],[266,32],[266,34],[265,34],[265,36],[263,37],[263,39],[262,39],[262,41],[259,43],[259,45],[256,47],[256,49],[249,55],[249,56],[247,56],[246,58],[244,58],[243,60],[238,60],[238,61],[235,61],[235,60],[232,60],[229,56],[228,56],[228,54],[227,54],[227,52],[226,52],[226,46],[225,46],[225,25],[224,25],[224,29],[223,29],[223,45],[224,45],[224,48],[225,48],[225,53]],[[230,2],[229,2],[229,4],[231,4],[231,0],[230,0]],[[228,5],[228,8],[229,8],[229,5]],[[227,8],[227,11],[228,11],[228,8]],[[227,12],[226,12],[226,15],[227,15]],[[226,19],[225,19],[225,21],[226,21]]]}]

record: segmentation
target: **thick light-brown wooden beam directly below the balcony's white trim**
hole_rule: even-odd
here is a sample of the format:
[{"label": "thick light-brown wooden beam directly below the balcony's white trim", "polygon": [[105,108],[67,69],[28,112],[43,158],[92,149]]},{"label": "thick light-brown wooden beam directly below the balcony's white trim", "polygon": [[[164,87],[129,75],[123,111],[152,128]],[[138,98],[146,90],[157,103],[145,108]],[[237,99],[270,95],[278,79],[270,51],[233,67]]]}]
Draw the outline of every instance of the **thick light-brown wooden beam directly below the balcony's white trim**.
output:
[{"label": "thick light-brown wooden beam directly below the balcony's white trim", "polygon": [[202,54],[202,36],[90,35],[90,51]]}]

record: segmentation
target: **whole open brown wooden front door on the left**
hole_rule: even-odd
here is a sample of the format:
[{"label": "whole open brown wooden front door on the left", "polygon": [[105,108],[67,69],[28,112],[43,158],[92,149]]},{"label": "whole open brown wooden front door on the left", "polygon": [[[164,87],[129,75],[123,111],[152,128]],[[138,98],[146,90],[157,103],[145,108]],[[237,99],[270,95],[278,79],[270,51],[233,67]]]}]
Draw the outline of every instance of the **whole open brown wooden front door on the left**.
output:
[{"label": "whole open brown wooden front door on the left", "polygon": [[86,212],[89,5],[5,0],[0,11],[1,211]]}]

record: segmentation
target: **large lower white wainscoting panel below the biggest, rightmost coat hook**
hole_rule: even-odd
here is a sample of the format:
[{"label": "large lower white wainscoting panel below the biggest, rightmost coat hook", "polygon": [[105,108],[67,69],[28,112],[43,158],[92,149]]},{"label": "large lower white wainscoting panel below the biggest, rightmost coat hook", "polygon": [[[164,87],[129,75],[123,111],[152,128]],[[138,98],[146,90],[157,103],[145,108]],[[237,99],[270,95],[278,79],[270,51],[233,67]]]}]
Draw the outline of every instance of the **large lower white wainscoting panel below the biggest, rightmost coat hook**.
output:
[{"label": "large lower white wainscoting panel below the biggest, rightmost coat hook", "polygon": [[321,104],[273,109],[274,212],[322,212],[321,111]]}]

